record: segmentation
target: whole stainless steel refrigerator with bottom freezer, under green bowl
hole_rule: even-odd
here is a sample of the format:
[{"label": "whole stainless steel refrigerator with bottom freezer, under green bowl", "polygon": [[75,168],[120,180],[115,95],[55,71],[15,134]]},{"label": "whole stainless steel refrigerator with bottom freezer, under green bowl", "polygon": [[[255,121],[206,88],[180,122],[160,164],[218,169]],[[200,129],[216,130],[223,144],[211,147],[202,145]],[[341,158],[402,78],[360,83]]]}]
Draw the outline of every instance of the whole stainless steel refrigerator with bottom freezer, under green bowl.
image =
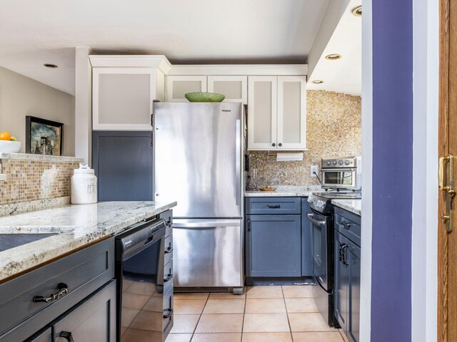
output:
[{"label": "whole stainless steel refrigerator with bottom freezer, under green bowl", "polygon": [[242,103],[154,103],[154,200],[174,208],[174,286],[243,291]]}]

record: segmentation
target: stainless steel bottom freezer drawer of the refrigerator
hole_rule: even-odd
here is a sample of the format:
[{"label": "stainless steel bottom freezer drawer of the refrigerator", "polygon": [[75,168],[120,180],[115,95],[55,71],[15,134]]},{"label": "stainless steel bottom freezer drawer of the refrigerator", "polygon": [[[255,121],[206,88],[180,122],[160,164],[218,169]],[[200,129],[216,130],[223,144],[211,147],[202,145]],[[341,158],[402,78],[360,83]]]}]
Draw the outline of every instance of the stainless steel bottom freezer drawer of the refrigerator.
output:
[{"label": "stainless steel bottom freezer drawer of the refrigerator", "polygon": [[241,219],[174,219],[176,287],[243,286]]}]

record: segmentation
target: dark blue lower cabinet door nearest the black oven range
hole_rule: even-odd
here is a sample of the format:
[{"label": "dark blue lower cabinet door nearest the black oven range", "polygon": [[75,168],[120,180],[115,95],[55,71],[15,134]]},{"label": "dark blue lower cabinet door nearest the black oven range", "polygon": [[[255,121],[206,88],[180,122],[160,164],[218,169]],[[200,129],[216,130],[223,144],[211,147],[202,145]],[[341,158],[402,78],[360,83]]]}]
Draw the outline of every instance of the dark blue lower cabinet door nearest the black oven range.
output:
[{"label": "dark blue lower cabinet door nearest the black oven range", "polygon": [[[340,323],[343,331],[348,330],[349,322],[349,266],[343,261],[343,254],[345,249],[348,249],[348,239],[343,235],[335,232],[334,244],[334,260],[335,260],[335,279],[334,279],[334,314],[338,323]],[[348,259],[348,258],[346,258]]]}]

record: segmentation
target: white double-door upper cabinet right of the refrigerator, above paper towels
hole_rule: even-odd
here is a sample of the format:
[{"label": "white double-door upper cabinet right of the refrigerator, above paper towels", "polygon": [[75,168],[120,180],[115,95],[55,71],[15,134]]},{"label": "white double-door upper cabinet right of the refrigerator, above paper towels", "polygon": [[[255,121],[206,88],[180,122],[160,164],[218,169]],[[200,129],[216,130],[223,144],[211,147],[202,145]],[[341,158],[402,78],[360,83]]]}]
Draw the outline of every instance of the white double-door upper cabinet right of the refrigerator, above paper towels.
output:
[{"label": "white double-door upper cabinet right of the refrigerator, above paper towels", "polygon": [[306,76],[248,77],[248,150],[306,150]]}]

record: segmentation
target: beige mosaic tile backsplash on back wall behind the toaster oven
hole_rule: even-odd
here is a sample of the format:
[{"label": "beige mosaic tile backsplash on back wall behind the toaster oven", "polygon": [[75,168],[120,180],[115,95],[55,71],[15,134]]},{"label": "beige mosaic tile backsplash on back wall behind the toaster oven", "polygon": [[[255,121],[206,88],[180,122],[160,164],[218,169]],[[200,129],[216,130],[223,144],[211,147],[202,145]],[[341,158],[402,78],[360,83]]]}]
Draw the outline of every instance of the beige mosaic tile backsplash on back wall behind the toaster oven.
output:
[{"label": "beige mosaic tile backsplash on back wall behind the toaster oven", "polygon": [[280,185],[318,185],[311,177],[311,165],[318,165],[324,157],[361,155],[362,125],[361,97],[325,90],[306,92],[306,147],[303,160],[277,162],[276,153],[250,151],[250,167],[257,169],[257,177],[278,175]]}]

